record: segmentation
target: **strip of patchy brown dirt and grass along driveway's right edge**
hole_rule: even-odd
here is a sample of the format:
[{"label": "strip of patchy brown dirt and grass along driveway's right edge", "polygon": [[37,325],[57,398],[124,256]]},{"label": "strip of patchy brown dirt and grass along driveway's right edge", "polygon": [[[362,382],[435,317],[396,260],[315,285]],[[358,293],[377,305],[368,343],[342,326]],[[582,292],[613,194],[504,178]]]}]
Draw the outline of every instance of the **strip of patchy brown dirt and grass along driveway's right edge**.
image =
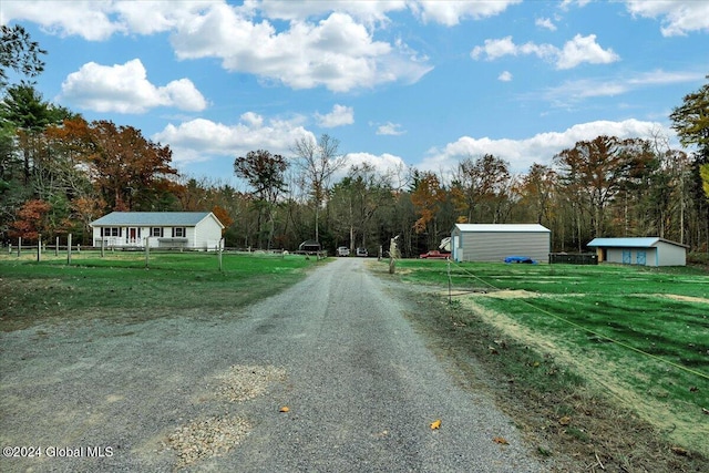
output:
[{"label": "strip of patchy brown dirt and grass along driveway's right edge", "polygon": [[[646,421],[637,412],[641,401],[604,382],[613,371],[607,363],[577,363],[553,340],[475,302],[487,296],[452,305],[418,297],[427,316],[411,317],[432,348],[452,357],[474,380],[470,385],[485,385],[556,471],[709,471],[700,453],[665,440],[675,426]],[[647,407],[644,414],[661,418],[661,409]]]}]

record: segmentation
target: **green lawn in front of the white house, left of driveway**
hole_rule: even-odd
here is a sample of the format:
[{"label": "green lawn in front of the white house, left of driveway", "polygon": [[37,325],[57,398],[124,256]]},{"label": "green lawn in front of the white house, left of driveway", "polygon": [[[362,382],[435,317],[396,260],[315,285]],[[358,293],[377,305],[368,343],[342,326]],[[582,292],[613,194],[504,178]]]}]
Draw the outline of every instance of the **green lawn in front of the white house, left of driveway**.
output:
[{"label": "green lawn in front of the white house, left of driveway", "polygon": [[317,265],[304,256],[96,251],[0,256],[0,329],[47,320],[214,313],[246,306],[299,280]]}]

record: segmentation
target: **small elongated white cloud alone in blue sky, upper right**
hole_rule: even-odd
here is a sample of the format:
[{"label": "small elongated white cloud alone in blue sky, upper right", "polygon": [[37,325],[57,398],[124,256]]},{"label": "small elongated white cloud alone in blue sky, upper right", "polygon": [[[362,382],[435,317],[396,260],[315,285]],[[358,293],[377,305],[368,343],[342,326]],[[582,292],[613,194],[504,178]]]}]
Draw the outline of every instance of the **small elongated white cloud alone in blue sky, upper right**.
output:
[{"label": "small elongated white cloud alone in blue sky, upper right", "polygon": [[620,59],[612,49],[604,50],[596,43],[595,34],[587,37],[576,34],[574,39],[567,41],[562,49],[552,44],[536,44],[534,42],[515,44],[512,37],[505,37],[499,40],[485,40],[484,45],[473,48],[470,53],[471,58],[475,60],[484,56],[487,61],[504,55],[528,54],[534,54],[540,59],[554,62],[556,69],[572,69],[585,62],[607,64]]}]

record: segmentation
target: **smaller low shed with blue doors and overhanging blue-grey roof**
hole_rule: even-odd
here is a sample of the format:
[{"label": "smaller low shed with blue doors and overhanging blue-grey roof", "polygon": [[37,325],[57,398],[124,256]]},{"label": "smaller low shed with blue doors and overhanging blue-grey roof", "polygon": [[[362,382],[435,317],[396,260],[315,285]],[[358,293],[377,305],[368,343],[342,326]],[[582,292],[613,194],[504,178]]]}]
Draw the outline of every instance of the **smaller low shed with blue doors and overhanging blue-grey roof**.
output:
[{"label": "smaller low shed with blue doors and overhanging blue-grey roof", "polygon": [[685,266],[687,246],[660,237],[594,238],[598,263],[619,263],[640,266]]}]

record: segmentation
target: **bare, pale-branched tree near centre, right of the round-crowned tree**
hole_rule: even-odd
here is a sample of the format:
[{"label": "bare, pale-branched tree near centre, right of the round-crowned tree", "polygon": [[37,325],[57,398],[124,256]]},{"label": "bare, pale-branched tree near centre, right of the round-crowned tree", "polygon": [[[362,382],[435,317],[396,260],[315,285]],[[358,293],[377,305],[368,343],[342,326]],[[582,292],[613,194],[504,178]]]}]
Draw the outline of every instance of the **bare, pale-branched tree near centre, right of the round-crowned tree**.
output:
[{"label": "bare, pale-branched tree near centre, right of the round-crowned tree", "polygon": [[332,175],[345,166],[347,157],[340,154],[340,142],[328,134],[317,142],[301,137],[291,147],[301,171],[302,185],[308,188],[315,208],[315,239],[320,238],[320,209],[326,203]]}]

